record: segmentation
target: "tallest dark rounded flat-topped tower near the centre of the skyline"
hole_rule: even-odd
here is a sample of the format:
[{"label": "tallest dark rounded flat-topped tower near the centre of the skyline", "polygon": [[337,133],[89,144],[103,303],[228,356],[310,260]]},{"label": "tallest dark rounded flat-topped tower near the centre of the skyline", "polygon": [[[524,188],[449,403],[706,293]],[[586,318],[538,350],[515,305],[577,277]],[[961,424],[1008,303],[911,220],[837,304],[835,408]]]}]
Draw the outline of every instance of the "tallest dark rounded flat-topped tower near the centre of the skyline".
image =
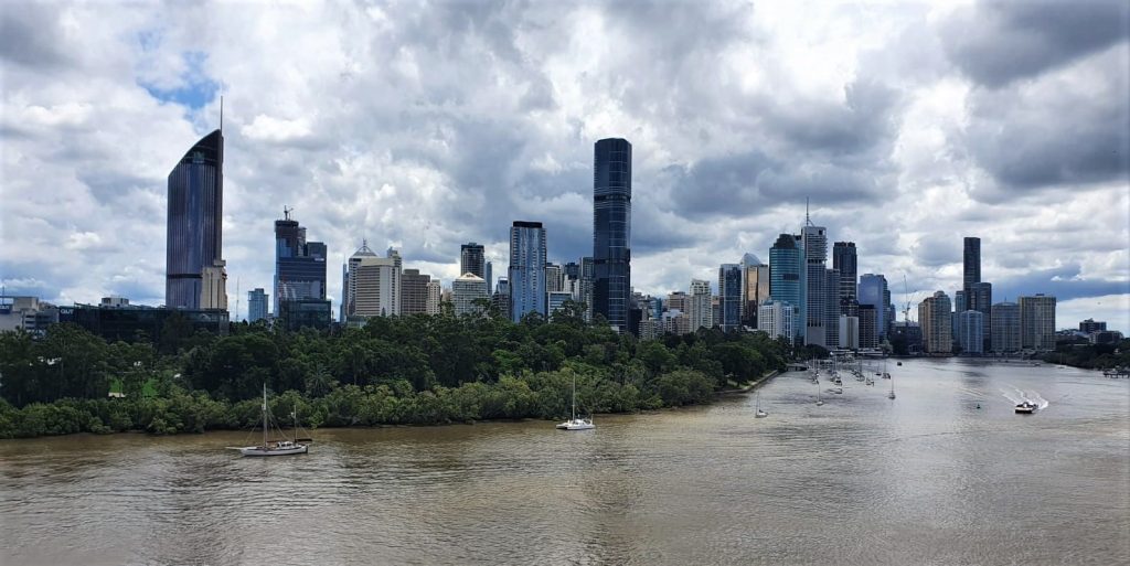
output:
[{"label": "tallest dark rounded flat-topped tower near the centre of the skyline", "polygon": [[597,142],[592,185],[592,313],[625,332],[632,305],[632,143]]}]

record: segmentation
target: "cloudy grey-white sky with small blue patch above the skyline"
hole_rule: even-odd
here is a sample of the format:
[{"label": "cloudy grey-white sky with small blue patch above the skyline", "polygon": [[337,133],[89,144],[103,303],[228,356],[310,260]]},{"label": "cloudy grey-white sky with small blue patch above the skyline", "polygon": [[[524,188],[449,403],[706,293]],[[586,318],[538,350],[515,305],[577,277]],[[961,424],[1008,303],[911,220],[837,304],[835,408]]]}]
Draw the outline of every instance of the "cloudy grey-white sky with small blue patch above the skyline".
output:
[{"label": "cloudy grey-white sky with small blue patch above the skyline", "polygon": [[164,303],[167,175],[223,95],[241,317],[284,206],[329,247],[334,312],[363,238],[445,286],[466,242],[503,273],[513,220],[591,255],[593,142],[620,137],[636,290],[767,261],[808,200],[911,319],[979,236],[994,302],[1130,331],[1122,0],[17,0],[0,66],[9,295]]}]

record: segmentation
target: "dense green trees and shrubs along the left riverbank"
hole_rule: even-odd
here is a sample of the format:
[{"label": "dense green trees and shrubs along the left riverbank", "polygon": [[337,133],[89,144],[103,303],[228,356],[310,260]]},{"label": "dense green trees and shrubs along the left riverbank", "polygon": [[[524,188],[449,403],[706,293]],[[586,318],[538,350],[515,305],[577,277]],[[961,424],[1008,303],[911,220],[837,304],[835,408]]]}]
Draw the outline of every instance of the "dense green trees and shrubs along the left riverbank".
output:
[{"label": "dense green trees and shrubs along the left riverbank", "polygon": [[716,329],[637,341],[584,323],[575,306],[518,324],[444,314],[288,333],[240,323],[156,348],[56,324],[42,339],[0,334],[0,437],[250,428],[264,383],[275,416],[296,411],[306,427],[559,419],[574,378],[579,410],[633,412],[706,402],[791,354],[763,333]]}]

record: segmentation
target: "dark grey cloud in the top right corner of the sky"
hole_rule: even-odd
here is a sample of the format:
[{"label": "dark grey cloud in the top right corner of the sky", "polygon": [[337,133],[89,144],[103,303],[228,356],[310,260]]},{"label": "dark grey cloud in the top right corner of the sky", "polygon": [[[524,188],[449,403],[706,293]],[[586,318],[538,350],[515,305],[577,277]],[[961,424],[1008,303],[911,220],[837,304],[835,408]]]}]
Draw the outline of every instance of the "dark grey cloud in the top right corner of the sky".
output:
[{"label": "dark grey cloud in the top right corner of the sky", "polygon": [[983,1],[956,14],[941,29],[950,60],[979,84],[997,88],[1124,41],[1130,36],[1130,5]]}]

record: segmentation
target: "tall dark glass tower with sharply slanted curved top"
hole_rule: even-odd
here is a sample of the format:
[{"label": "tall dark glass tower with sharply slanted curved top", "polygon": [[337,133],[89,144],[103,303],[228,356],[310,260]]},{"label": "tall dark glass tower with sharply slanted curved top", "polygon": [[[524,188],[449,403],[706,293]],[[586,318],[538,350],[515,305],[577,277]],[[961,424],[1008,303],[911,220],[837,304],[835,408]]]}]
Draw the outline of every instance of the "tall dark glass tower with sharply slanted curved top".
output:
[{"label": "tall dark glass tower with sharply slanted curved top", "polygon": [[[225,296],[224,134],[200,139],[168,174],[165,306],[217,308]],[[214,279],[210,284],[206,278]],[[211,293],[206,293],[211,288]],[[226,307],[226,298],[224,299]]]}]

